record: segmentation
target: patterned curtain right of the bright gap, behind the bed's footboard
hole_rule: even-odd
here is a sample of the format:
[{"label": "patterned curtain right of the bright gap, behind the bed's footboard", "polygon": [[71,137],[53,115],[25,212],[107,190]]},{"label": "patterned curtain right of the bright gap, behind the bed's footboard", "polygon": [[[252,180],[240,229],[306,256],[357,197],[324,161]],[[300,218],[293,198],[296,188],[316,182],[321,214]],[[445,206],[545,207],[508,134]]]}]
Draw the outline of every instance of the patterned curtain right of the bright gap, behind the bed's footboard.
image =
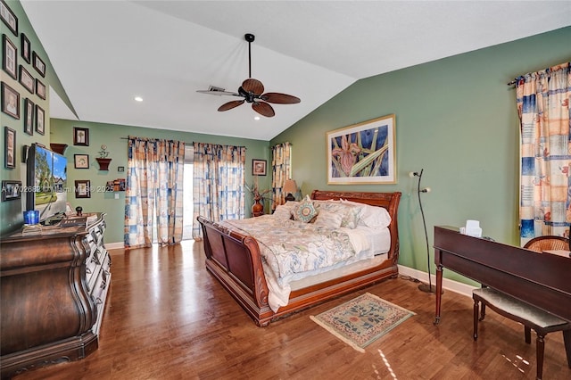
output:
[{"label": "patterned curtain right of the bright gap, behind the bed's footboard", "polygon": [[203,231],[196,221],[201,215],[212,221],[244,219],[244,146],[194,143],[193,237]]}]

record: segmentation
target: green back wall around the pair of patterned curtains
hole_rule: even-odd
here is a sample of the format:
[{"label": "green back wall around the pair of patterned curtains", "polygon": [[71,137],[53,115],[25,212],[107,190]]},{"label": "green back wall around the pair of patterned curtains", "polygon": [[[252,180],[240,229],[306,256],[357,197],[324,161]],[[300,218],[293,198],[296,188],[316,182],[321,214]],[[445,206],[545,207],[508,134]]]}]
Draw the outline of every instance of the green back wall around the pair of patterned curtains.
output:
[{"label": "green back wall around the pair of patterned curtains", "polygon": [[[89,129],[89,146],[73,145],[73,128]],[[52,143],[67,144],[65,156],[68,158],[68,185],[74,186],[76,180],[90,180],[92,193],[91,198],[75,198],[75,194],[68,194],[68,202],[73,209],[83,207],[84,212],[106,212],[107,230],[105,231],[105,243],[123,242],[123,225],[125,219],[125,192],[104,192],[107,181],[116,178],[126,178],[125,172],[119,172],[118,167],[127,169],[127,136],[148,138],[168,138],[184,141],[187,144],[195,142],[212,143],[221,145],[239,145],[246,147],[246,181],[252,183],[252,159],[269,160],[269,142],[251,140],[245,138],[212,136],[190,132],[179,132],[165,129],[129,127],[114,124],[102,124],[86,121],[73,121],[52,119]],[[112,159],[109,170],[99,170],[95,161],[99,157],[101,145],[107,145],[109,158]],[[89,155],[89,169],[75,169],[74,154]],[[260,186],[270,186],[270,176],[260,177]],[[115,199],[119,194],[119,199]],[[252,204],[247,199],[248,204]],[[266,202],[266,211],[269,211],[269,203]],[[246,213],[250,215],[249,208]]]}]

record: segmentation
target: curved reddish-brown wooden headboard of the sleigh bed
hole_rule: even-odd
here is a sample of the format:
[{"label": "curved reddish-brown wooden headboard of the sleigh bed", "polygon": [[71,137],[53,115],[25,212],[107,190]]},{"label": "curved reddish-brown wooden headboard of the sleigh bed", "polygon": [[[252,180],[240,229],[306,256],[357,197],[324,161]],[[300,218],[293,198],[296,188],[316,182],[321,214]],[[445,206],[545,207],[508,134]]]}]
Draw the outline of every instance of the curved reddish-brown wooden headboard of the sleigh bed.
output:
[{"label": "curved reddish-brown wooden headboard of the sleigh bed", "polygon": [[367,192],[345,192],[345,191],[327,191],[313,190],[311,199],[316,201],[327,201],[328,199],[344,199],[352,202],[360,202],[370,204],[372,206],[384,207],[391,215],[391,250],[389,254],[393,255],[393,260],[399,257],[399,228],[397,223],[397,211],[399,202],[401,202],[401,192],[394,193],[367,193]]}]

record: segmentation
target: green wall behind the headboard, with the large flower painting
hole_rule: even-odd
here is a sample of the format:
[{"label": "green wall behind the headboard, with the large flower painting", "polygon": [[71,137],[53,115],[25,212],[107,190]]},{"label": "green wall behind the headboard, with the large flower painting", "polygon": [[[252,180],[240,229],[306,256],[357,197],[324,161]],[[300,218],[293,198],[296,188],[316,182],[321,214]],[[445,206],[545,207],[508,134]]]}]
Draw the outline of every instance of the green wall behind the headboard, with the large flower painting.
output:
[{"label": "green wall behind the headboard, with the large flower painting", "polygon": [[[302,194],[313,189],[401,191],[401,265],[426,271],[426,241],[418,207],[418,178],[429,245],[438,225],[480,220],[483,234],[518,244],[519,132],[514,87],[518,75],[571,59],[571,27],[364,78],[270,141],[293,144],[292,174]],[[326,133],[396,115],[396,185],[327,185]],[[315,141],[323,144],[315,145]],[[433,250],[430,248],[431,261]],[[432,272],[434,273],[434,265]],[[445,271],[449,278],[465,279]]]}]

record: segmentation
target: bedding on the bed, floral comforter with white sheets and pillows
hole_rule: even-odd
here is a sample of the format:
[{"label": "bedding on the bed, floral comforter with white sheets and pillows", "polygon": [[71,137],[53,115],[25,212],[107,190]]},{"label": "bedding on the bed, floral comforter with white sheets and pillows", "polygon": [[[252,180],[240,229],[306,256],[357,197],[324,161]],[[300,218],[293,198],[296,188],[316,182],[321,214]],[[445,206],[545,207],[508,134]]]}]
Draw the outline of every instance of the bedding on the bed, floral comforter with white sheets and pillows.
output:
[{"label": "bedding on the bed, floral comforter with white sheets and pillows", "polygon": [[[344,214],[344,218],[349,219],[350,223],[343,221],[343,225],[351,227],[331,227],[331,219],[324,220],[325,223],[289,219],[294,211],[281,212],[284,211],[281,207],[283,206],[278,207],[274,215],[219,222],[223,227],[252,235],[258,241],[269,288],[271,310],[277,311],[287,305],[292,283],[296,286],[305,283],[319,284],[325,281],[321,278],[335,278],[327,275],[335,271],[362,270],[363,265],[354,264],[372,260],[390,249],[391,235],[386,227],[390,217],[385,218],[385,209],[366,206],[369,216],[377,216],[377,211],[382,211],[382,218],[368,218],[374,222],[369,222],[369,226],[374,227],[367,227],[359,219],[364,215],[364,211],[360,212],[354,205],[320,201],[319,210],[322,217],[326,215],[326,210],[336,214],[351,210]],[[331,213],[328,215],[327,218],[330,218]],[[351,221],[351,218],[355,218],[354,221]],[[383,226],[378,225],[378,220]],[[339,226],[342,219],[339,218],[337,223]],[[382,262],[379,259],[374,261]]]}]

